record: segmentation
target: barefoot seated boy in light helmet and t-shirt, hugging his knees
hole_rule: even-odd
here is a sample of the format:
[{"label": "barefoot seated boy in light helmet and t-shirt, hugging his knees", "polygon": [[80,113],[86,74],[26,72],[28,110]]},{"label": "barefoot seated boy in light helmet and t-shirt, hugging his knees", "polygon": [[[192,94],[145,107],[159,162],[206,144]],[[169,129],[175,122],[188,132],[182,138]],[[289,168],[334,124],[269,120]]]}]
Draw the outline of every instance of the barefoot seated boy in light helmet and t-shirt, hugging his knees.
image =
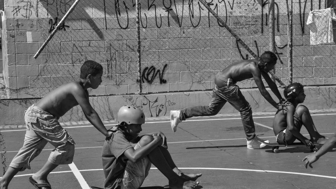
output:
[{"label": "barefoot seated boy in light helmet and t-shirt, hugging his knees", "polygon": [[[145,115],[141,109],[125,105],[117,114],[118,126],[112,128],[102,148],[105,189],[138,189],[152,163],[169,180],[171,189],[193,189],[202,174],[181,172],[172,160],[162,132],[144,133]],[[132,147],[131,143],[137,143]]]}]

